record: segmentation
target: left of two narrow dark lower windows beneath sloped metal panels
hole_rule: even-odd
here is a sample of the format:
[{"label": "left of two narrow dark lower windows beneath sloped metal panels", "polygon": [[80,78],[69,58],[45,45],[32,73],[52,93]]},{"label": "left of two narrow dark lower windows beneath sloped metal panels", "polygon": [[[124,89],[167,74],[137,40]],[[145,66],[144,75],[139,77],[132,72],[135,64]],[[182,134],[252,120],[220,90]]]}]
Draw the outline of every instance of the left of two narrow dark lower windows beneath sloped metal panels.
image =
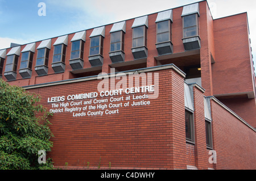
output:
[{"label": "left of two narrow dark lower windows beneath sloped metal panels", "polygon": [[185,133],[188,141],[194,140],[193,113],[185,110]]}]

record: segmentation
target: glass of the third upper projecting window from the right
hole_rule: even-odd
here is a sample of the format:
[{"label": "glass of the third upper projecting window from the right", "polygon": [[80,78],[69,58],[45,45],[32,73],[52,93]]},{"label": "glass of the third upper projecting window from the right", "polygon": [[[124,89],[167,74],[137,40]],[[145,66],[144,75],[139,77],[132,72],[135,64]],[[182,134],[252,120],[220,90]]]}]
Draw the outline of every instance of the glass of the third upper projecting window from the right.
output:
[{"label": "glass of the third upper projecting window from the right", "polygon": [[133,47],[146,46],[146,27],[133,28]]}]

